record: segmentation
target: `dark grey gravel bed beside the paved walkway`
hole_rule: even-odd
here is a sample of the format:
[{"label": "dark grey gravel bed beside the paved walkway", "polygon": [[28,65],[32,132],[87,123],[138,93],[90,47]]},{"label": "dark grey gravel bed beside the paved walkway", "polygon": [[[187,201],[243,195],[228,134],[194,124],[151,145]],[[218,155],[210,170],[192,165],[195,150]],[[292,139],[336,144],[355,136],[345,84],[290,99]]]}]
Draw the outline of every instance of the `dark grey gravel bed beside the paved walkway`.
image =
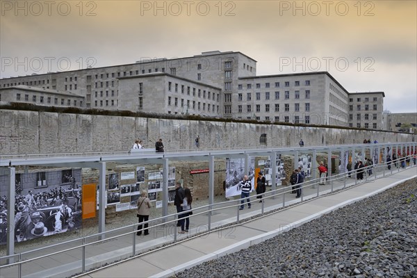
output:
[{"label": "dark grey gravel bed beside the paved walkway", "polygon": [[417,179],[174,277],[417,277]]}]

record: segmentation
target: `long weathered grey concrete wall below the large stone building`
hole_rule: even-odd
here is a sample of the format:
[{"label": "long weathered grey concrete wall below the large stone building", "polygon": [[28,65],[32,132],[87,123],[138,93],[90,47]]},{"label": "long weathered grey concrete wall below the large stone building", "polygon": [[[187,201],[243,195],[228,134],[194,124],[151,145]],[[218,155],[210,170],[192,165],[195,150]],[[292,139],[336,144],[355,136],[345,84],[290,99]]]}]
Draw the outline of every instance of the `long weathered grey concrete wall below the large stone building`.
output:
[{"label": "long weathered grey concrete wall below the large stone building", "polygon": [[[259,142],[262,133],[266,146]],[[162,138],[167,150],[195,149],[197,135],[207,149],[289,147],[301,138],[306,146],[415,140],[383,131],[0,110],[0,154],[127,152],[136,138],[147,148]]]}]

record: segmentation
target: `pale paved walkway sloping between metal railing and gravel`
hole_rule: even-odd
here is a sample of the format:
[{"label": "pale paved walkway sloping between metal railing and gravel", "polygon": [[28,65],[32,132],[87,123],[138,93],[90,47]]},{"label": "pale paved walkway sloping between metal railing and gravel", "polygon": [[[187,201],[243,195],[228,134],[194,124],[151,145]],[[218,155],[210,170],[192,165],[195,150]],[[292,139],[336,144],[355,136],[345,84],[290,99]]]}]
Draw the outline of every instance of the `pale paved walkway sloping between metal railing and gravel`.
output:
[{"label": "pale paved walkway sloping between metal railing and gravel", "polygon": [[[338,193],[325,195],[318,199],[311,199],[308,202],[291,206],[276,213],[264,215],[262,218],[242,222],[234,227],[212,231],[203,236],[184,240],[177,245],[172,245],[149,254],[143,254],[135,259],[110,265],[81,277],[170,277],[176,272],[198,265],[204,261],[218,259],[220,256],[261,243],[284,231],[288,231],[288,229],[293,229],[305,222],[318,218],[320,215],[380,193],[412,177],[417,177],[416,167],[411,167],[403,172],[398,172],[389,177],[377,179],[376,181],[364,182],[360,186],[348,188]],[[334,188],[340,187],[341,183],[336,184],[335,182]],[[306,195],[314,193],[315,190],[305,190]],[[320,186],[321,191],[322,188]],[[309,197],[313,195],[310,194]],[[268,202],[277,203],[277,199],[270,199],[265,203]],[[295,200],[290,200],[288,197],[288,204],[291,202],[295,202]],[[246,213],[245,217],[260,213],[259,205],[261,204],[257,206],[256,204],[258,203],[254,203],[251,211],[245,207],[243,211]],[[236,208],[230,209],[236,211]],[[241,215],[241,219],[243,219],[243,215]],[[176,229],[175,227],[172,228]]]}]

